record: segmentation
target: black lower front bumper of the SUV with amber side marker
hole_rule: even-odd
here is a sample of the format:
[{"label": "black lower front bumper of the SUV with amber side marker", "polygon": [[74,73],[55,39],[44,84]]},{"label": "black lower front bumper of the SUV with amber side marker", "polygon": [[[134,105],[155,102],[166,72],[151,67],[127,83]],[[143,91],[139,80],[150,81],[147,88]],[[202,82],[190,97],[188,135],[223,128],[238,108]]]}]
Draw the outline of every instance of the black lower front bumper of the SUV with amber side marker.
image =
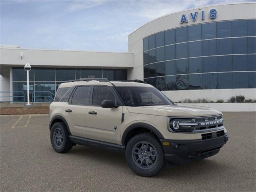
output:
[{"label": "black lower front bumper of the SUV with amber side marker", "polygon": [[228,134],[207,140],[160,139],[165,160],[170,164],[186,164],[217,154],[228,141]]}]

